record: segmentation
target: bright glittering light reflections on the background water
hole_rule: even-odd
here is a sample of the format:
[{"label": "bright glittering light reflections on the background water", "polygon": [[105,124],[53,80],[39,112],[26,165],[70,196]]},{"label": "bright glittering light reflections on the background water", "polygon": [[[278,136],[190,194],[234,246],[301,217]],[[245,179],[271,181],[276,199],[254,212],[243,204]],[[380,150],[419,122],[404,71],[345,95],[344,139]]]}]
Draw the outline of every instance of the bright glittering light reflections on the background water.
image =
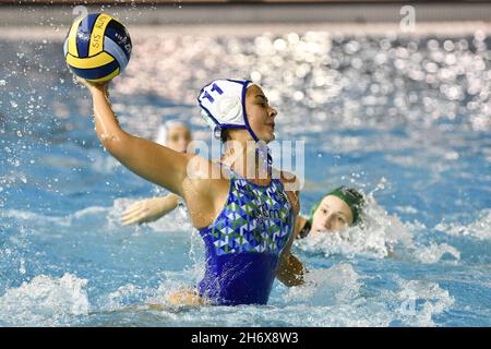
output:
[{"label": "bright glittering light reflections on the background water", "polygon": [[428,128],[464,118],[486,131],[491,127],[489,43],[482,32],[465,38],[315,32],[166,38],[163,33],[142,40],[117,89],[193,105],[195,91],[212,77],[242,76],[265,86],[287,130],[327,131],[327,120],[339,128],[387,129],[402,122]]}]

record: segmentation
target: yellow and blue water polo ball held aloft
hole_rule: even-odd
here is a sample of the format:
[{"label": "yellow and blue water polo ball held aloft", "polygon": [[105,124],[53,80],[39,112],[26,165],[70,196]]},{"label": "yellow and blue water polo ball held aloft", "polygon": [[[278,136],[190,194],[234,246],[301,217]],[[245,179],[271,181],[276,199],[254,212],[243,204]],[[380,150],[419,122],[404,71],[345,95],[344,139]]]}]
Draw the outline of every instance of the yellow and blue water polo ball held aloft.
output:
[{"label": "yellow and blue water polo ball held aloft", "polygon": [[106,82],[128,65],[130,34],[117,19],[105,13],[91,13],[72,24],[63,55],[75,75],[93,83]]}]

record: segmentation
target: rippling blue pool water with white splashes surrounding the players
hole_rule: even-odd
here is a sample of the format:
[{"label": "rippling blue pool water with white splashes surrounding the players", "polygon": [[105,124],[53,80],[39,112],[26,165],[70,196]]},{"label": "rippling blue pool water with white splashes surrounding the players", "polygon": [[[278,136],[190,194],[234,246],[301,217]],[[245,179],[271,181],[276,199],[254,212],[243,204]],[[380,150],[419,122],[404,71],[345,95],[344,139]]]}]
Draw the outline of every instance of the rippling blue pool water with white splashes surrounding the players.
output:
[{"label": "rippling blue pool water with white splashes surrounding the players", "polygon": [[368,197],[366,227],[296,242],[308,285],[275,281],[265,306],[170,306],[166,296],[203,273],[185,209],[123,227],[129,204],[164,192],[100,146],[61,37],[0,38],[0,325],[491,325],[484,33],[155,29],[133,41],[111,91],[125,130],[155,137],[175,118],[209,141],[194,103],[201,86],[253,79],[279,111],[278,139],[306,141],[302,212],[354,185]]}]

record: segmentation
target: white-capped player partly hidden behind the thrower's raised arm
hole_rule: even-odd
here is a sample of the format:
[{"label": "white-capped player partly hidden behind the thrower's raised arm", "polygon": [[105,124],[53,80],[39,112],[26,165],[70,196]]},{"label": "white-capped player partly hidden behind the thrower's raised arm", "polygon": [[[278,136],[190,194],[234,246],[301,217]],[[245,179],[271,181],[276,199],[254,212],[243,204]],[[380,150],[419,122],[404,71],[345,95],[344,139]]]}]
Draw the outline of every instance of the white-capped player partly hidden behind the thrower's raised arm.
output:
[{"label": "white-capped player partly hidden behind the thrower's raised arm", "polygon": [[[185,153],[191,141],[191,130],[185,122],[168,120],[158,128],[156,142],[172,151]],[[121,218],[122,224],[129,226],[157,220],[176,209],[179,202],[180,196],[172,193],[161,197],[140,200],[124,212]]]}]

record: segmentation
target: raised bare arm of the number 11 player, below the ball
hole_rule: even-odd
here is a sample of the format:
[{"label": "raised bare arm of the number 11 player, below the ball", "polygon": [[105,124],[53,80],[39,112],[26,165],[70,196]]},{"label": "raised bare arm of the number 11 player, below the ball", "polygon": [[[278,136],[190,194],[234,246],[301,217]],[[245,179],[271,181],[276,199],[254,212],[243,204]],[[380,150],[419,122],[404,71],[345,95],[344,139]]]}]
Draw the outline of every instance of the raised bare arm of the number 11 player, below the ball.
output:
[{"label": "raised bare arm of the number 11 player, below the ball", "polygon": [[182,196],[190,156],[124,132],[109,103],[108,85],[81,82],[92,93],[96,132],[104,147],[132,172]]}]

